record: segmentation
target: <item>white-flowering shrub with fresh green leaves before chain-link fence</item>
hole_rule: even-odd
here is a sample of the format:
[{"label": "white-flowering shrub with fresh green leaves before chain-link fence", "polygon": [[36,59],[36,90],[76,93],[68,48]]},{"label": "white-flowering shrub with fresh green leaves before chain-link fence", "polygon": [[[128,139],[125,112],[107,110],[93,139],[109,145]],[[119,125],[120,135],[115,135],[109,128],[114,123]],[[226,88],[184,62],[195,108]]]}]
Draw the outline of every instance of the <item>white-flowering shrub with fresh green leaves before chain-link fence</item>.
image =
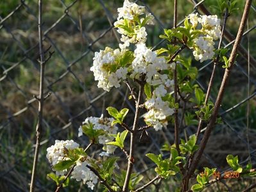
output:
[{"label": "white-flowering shrub with fresh green leaves before chain-link fence", "polygon": [[[223,26],[234,9],[234,2],[221,4],[225,12]],[[173,177],[176,185],[171,191],[201,191],[213,182],[216,168],[204,168],[204,172],[198,174],[188,186],[189,181],[186,180],[197,173],[192,170],[191,174],[187,170],[198,150],[199,134],[193,134],[185,140],[176,137],[175,144],[164,144],[162,150],[167,151],[168,156],[153,152],[146,154],[146,158],[155,163],[154,179],[146,184],[142,184],[142,174],[133,172],[133,165],[137,163],[135,145],[139,142],[139,136],[147,134],[149,129],[159,131],[176,124],[180,108],[187,108],[181,117],[184,126],[198,125],[198,120],[209,122],[214,104],[208,101],[209,98],[206,99],[206,94],[196,83],[198,68],[191,64],[188,54],[182,56],[182,51],[191,52],[196,61],[213,60],[214,63],[224,62],[224,68],[229,67],[225,56],[228,50],[220,46],[216,49],[216,41],[223,35],[221,20],[217,15],[192,13],[185,17],[183,26],[164,29],[164,35],[160,35],[160,38],[165,39],[167,44],[160,49],[153,49],[146,45],[146,27],[154,24],[154,17],[146,12],[144,6],[125,0],[123,7],[117,11],[119,14],[114,26],[121,35],[122,43],[117,49],[106,47],[95,52],[90,70],[98,81],[98,87],[107,92],[119,88],[121,84],[128,86],[128,99],[135,101],[133,125],[125,124],[129,113],[127,108],[115,109],[109,106],[107,111],[111,117],[87,117],[78,130],[78,136],[87,136],[89,146],[84,149],[73,140],[56,140],[55,145],[47,148],[47,159],[55,171],[48,176],[56,181],[56,191],[68,185],[69,177],[83,181],[92,190],[99,183],[104,191],[124,192],[142,191],[158,180]],[[142,118],[139,118],[140,115]],[[221,120],[218,118],[216,124],[219,122]],[[125,145],[128,137],[130,148]],[[102,146],[102,150],[90,157],[87,150],[92,145]],[[115,156],[117,148],[127,157],[126,162],[119,162],[120,158]],[[124,163],[126,170],[123,170]],[[227,163],[234,172],[255,175],[250,172],[252,164],[243,168],[237,156],[229,155]]]}]

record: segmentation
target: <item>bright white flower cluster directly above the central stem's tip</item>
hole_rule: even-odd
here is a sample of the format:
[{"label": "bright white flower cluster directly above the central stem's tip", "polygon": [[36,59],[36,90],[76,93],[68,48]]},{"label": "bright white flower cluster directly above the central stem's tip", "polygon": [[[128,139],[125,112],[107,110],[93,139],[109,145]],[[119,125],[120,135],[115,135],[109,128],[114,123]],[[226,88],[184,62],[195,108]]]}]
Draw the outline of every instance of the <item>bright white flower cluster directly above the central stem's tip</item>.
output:
[{"label": "bright white flower cluster directly above the central stem's tip", "polygon": [[148,49],[145,44],[137,44],[134,56],[131,78],[139,79],[142,74],[145,74],[146,82],[153,86],[166,83],[167,75],[160,74],[161,70],[168,68],[164,57],[158,57],[157,53]]}]

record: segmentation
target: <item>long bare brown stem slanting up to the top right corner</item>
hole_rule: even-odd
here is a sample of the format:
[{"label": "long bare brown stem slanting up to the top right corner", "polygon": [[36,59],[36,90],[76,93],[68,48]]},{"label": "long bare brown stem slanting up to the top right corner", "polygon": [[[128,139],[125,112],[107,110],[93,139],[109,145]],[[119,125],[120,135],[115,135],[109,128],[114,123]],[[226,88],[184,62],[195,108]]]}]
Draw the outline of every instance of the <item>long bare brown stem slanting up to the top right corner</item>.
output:
[{"label": "long bare brown stem slanting up to the top right corner", "polygon": [[[207,129],[205,131],[205,134],[203,134],[203,138],[201,140],[200,147],[199,147],[198,151],[196,152],[195,157],[192,159],[192,164],[191,164],[191,167],[189,168],[189,172],[187,173],[187,175],[185,175],[185,177],[187,177],[187,182],[189,180],[190,175],[194,172],[194,170],[196,169],[196,166],[199,163],[199,160],[200,160],[200,158],[203,154],[203,150],[205,149],[205,146],[207,145],[207,142],[209,140],[210,133],[211,133],[211,131],[212,131],[214,125],[215,125],[216,118],[218,116],[219,107],[220,107],[222,99],[223,99],[223,94],[225,92],[225,88],[226,88],[226,85],[228,83],[228,79],[230,77],[230,72],[231,72],[232,67],[234,66],[234,63],[235,63],[237,47],[240,44],[241,38],[243,36],[244,26],[245,26],[246,20],[248,18],[248,13],[250,11],[251,4],[252,4],[252,0],[247,0],[246,4],[244,6],[243,17],[241,19],[241,23],[240,23],[239,30],[238,30],[238,33],[237,33],[237,37],[235,38],[235,44],[234,44],[234,47],[232,49],[230,59],[229,59],[230,60],[229,67],[226,68],[226,70],[225,70],[225,74],[223,76],[221,87],[219,88],[218,97],[217,97],[216,102],[214,104],[213,113],[212,113],[212,116],[210,118],[210,122],[207,125]],[[186,190],[187,189],[185,189],[185,191]]]}]

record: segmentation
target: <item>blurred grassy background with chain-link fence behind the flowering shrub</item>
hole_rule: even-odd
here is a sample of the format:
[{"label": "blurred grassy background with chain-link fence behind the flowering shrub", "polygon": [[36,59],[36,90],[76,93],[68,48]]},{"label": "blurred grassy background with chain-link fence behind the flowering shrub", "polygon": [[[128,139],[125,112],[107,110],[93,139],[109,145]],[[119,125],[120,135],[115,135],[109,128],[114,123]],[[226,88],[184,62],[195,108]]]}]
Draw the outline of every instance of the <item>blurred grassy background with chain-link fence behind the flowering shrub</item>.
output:
[{"label": "blurred grassy background with chain-link fence behind the flowering shrub", "polygon": [[[172,0],[137,1],[155,16],[155,25],[149,26],[148,42],[151,47],[164,45],[158,36],[164,28],[173,26]],[[178,1],[178,22],[192,12],[222,15],[214,8],[215,0]],[[45,93],[51,96],[44,104],[44,129],[42,147],[37,171],[37,191],[53,191],[55,184],[47,178],[51,166],[46,159],[46,148],[55,140],[73,139],[86,146],[85,137],[77,138],[78,127],[87,116],[107,115],[105,108],[130,108],[134,104],[127,99],[126,86],[104,92],[97,87],[90,72],[95,51],[106,46],[118,47],[118,34],[112,26],[117,18],[117,8],[123,6],[121,0],[45,0],[43,1],[44,49],[55,51],[46,64]],[[244,1],[237,1],[237,10],[230,15],[223,45],[228,45],[237,33]],[[238,155],[241,162],[250,159],[255,164],[256,149],[256,3],[248,19],[248,26],[240,47],[236,65],[232,71],[220,115],[223,124],[218,125],[205,150],[201,167],[210,166],[225,170],[226,155]],[[232,44],[228,48],[232,48]],[[185,52],[189,56],[189,52]],[[46,53],[47,56],[47,53]],[[38,5],[35,0],[0,1],[0,191],[28,191],[33,164],[35,125],[37,124],[37,100],[39,69],[38,64]],[[209,61],[192,65],[199,68],[198,83],[205,89],[210,79],[212,65]],[[212,100],[216,98],[221,83],[223,68],[218,67]],[[131,118],[131,120],[130,120]],[[131,124],[133,115],[128,117]],[[186,127],[188,134],[196,132],[196,127]],[[162,153],[164,142],[173,143],[173,125],[155,133],[149,131],[150,143],[139,143],[135,167],[144,172],[145,181],[151,178],[153,169],[144,154]],[[181,133],[183,137],[183,131]],[[92,156],[101,147],[90,150]],[[118,152],[117,152],[118,153]],[[121,154],[121,152],[120,152]],[[118,155],[118,154],[117,154]],[[123,156],[122,156],[123,157]],[[125,159],[125,158],[124,158]],[[123,159],[123,160],[124,160]],[[125,162],[125,161],[124,161]],[[121,163],[122,164],[122,163]],[[123,163],[125,164],[125,163]],[[255,166],[254,166],[255,167]],[[145,170],[148,170],[147,172]],[[225,188],[239,191],[253,179],[228,180],[215,186],[214,191]],[[255,179],[254,179],[255,182]],[[234,185],[235,183],[235,185]],[[173,180],[162,182],[166,191],[175,186]],[[222,187],[223,188],[222,188]],[[216,189],[216,190],[215,190]],[[71,180],[65,191],[89,191],[86,186]],[[208,190],[208,189],[207,189]],[[213,189],[209,189],[213,190]],[[98,189],[101,191],[101,189]]]}]

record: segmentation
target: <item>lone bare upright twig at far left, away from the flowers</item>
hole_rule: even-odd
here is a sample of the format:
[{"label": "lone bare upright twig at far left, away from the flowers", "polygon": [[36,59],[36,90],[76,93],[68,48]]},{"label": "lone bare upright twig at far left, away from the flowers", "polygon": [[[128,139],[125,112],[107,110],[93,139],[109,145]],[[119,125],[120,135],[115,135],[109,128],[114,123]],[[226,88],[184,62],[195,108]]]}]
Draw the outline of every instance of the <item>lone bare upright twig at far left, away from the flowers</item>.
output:
[{"label": "lone bare upright twig at far left, away from the flowers", "polygon": [[39,54],[40,54],[40,88],[39,88],[39,98],[38,98],[38,122],[36,127],[36,145],[35,145],[35,155],[33,161],[33,170],[31,174],[31,184],[30,192],[35,190],[35,176],[37,174],[37,163],[38,163],[38,154],[40,149],[40,140],[42,133],[42,116],[44,109],[44,68],[45,68],[45,58],[44,50],[42,45],[42,1],[38,0],[38,40],[39,40]]}]

